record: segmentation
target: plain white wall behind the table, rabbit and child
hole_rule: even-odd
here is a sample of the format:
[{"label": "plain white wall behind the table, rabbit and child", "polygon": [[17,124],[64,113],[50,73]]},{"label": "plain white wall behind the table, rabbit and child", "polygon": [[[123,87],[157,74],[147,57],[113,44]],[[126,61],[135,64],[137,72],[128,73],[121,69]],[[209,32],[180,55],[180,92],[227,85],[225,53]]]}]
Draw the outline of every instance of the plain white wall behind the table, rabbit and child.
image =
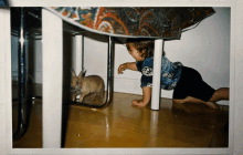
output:
[{"label": "plain white wall behind the table, rabbit and child", "polygon": [[[180,61],[183,65],[198,70],[202,79],[214,89],[229,87],[230,85],[230,9],[214,8],[215,14],[203,20],[196,29],[183,32],[180,40],[165,41],[166,56],[175,62]],[[12,41],[15,41],[12,38]],[[64,34],[65,50],[72,51],[74,37]],[[107,68],[107,37],[86,33],[84,38],[84,68],[87,75],[98,74],[106,83]],[[15,44],[12,43],[13,50]],[[42,82],[42,48],[41,41],[33,42],[35,46],[34,56],[34,80]],[[14,51],[12,51],[15,55]],[[54,58],[53,58],[54,59]],[[15,71],[17,58],[12,56],[12,71]],[[141,94],[140,73],[125,71],[117,74],[119,64],[133,62],[126,46],[115,44],[115,68],[114,68],[114,91]],[[161,91],[162,97],[172,97],[172,91]],[[221,101],[219,104],[229,104]]]}]

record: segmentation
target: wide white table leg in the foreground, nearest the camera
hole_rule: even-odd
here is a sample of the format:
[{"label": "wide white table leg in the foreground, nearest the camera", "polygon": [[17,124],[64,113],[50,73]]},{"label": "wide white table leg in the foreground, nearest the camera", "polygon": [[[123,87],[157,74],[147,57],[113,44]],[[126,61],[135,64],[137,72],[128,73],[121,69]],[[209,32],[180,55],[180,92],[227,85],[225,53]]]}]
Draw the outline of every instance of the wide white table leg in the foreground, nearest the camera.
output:
[{"label": "wide white table leg in the foreground, nearest the camera", "polygon": [[61,147],[63,76],[62,27],[61,18],[42,9],[43,148]]}]

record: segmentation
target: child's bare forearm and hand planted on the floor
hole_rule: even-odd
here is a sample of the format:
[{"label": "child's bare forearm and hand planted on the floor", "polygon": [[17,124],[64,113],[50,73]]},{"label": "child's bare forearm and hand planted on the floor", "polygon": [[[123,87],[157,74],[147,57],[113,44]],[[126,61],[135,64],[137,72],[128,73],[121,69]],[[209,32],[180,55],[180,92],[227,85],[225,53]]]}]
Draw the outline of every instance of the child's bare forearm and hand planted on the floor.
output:
[{"label": "child's bare forearm and hand planted on the floor", "polygon": [[151,97],[151,87],[149,86],[144,86],[142,87],[142,100],[134,100],[131,102],[131,106],[137,106],[137,107],[145,107]]}]

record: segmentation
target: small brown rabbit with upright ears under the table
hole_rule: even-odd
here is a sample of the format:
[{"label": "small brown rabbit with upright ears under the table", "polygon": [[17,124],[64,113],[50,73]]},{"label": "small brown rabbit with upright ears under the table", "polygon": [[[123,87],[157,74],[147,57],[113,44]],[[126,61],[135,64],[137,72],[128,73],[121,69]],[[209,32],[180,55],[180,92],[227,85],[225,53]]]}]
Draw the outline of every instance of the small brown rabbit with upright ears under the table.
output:
[{"label": "small brown rabbit with upright ears under the table", "polygon": [[105,84],[101,76],[98,75],[84,76],[82,71],[78,74],[78,76],[76,76],[75,72],[72,70],[72,80],[71,80],[72,101],[75,101],[76,96],[81,95],[78,102],[82,102],[84,100],[84,96],[91,93],[93,93],[94,96],[97,95],[98,99],[103,101],[104,92],[105,92]]}]

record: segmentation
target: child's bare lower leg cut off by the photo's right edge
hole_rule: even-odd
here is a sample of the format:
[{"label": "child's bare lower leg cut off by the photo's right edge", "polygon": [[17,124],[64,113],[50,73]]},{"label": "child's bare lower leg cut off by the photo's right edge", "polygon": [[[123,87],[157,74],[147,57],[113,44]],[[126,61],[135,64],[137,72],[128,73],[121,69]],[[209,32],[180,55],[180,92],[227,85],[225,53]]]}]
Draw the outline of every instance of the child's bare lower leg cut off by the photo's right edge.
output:
[{"label": "child's bare lower leg cut off by the photo's right edge", "polygon": [[229,87],[221,87],[216,90],[212,97],[209,100],[210,102],[216,102],[220,100],[229,100],[230,99],[230,89]]}]

